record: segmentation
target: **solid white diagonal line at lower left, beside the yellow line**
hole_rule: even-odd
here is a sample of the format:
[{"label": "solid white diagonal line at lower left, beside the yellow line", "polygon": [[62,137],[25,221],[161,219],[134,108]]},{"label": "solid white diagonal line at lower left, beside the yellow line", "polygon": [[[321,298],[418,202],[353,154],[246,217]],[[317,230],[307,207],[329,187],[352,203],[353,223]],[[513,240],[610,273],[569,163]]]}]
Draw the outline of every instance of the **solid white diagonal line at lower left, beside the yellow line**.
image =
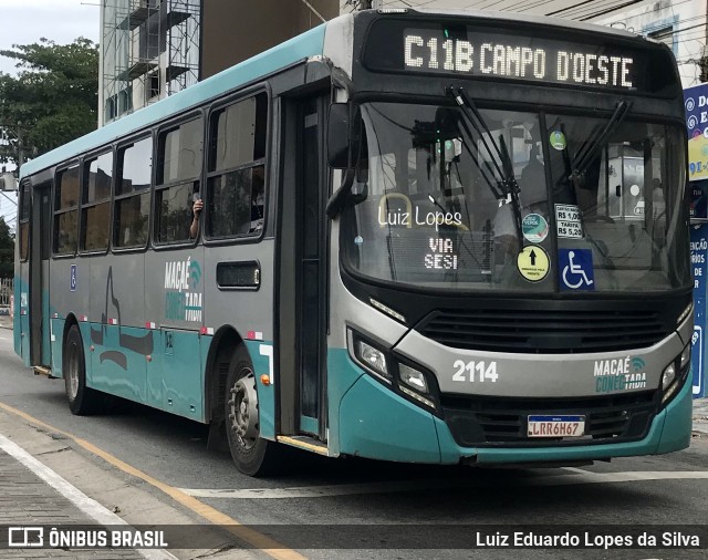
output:
[{"label": "solid white diagonal line at lower left, beside the yellow line", "polygon": [[[29,468],[32,473],[44,480],[49,486],[54,488],[59,494],[61,494],[64,498],[71,501],[74,506],[76,506],[81,511],[86,514],[97,523],[104,526],[122,525],[126,528],[132,528],[124,519],[116,516],[113,511],[104,508],[101,504],[86,496],[75,486],[72,486],[46,465],[37,460],[29,453],[22,449],[22,447],[11,442],[2,434],[0,434],[0,449],[19,460],[22,465]],[[176,556],[170,554],[166,550],[136,549],[135,551],[143,558],[147,558],[149,560],[177,560]]]}]

